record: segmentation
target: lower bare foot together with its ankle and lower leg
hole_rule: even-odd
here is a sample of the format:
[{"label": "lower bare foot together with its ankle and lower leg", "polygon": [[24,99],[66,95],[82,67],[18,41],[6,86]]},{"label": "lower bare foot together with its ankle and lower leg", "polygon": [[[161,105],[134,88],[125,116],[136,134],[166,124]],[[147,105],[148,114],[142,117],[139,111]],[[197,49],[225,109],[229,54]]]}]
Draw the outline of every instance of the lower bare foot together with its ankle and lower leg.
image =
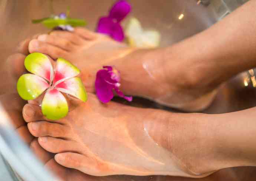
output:
[{"label": "lower bare foot together with its ankle and lower leg", "polygon": [[55,161],[64,167],[95,176],[205,177],[222,168],[256,165],[255,108],[181,114],[88,98],[58,121],[47,120],[37,105],[24,106],[30,133],[57,153]]}]

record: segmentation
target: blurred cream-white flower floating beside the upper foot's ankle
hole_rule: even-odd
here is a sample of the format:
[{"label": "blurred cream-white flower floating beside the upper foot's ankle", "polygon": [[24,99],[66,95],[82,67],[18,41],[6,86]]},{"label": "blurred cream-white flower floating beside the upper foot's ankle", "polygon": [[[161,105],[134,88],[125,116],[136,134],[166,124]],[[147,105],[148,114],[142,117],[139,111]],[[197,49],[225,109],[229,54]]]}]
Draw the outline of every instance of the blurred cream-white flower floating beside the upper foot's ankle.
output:
[{"label": "blurred cream-white flower floating beside the upper foot's ankle", "polygon": [[125,28],[125,35],[132,47],[155,48],[160,44],[160,33],[155,30],[143,30],[136,18],[131,18]]}]

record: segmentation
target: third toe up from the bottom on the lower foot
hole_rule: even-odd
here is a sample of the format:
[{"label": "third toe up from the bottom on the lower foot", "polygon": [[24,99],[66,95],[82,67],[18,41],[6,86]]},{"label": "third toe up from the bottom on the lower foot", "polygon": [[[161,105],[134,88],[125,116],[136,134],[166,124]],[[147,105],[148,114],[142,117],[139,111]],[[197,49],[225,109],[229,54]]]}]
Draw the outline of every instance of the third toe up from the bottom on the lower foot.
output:
[{"label": "third toe up from the bottom on the lower foot", "polygon": [[51,136],[66,138],[69,133],[67,126],[47,121],[30,122],[27,124],[29,132],[35,137]]}]

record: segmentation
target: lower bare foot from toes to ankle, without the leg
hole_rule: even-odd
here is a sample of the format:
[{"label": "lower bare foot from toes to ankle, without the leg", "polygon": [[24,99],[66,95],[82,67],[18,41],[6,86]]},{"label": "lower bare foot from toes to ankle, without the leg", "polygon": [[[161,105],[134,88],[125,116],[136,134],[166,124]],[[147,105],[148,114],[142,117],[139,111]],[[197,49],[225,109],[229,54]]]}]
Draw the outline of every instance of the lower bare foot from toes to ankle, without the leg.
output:
[{"label": "lower bare foot from toes to ankle, without the leg", "polygon": [[[34,113],[28,116],[26,115],[28,110]],[[166,120],[170,120],[172,117],[171,113],[164,111],[158,113],[158,110],[129,107],[114,102],[102,104],[90,93],[86,103],[81,103],[70,111],[68,116],[58,121],[52,122],[43,117],[37,105],[27,104],[23,109],[23,117],[29,122],[30,133],[39,137],[39,144],[45,150],[57,153],[55,160],[65,167],[96,176],[126,174],[205,177],[209,175],[207,169],[210,167],[203,168],[206,173],[204,174],[201,170],[197,172],[196,166],[188,165],[187,161],[193,163],[192,165],[199,163],[198,153],[190,154],[194,159],[189,158],[186,162],[180,159],[186,157],[186,153],[194,153],[193,147],[184,149],[186,145],[177,144],[179,147],[175,147],[175,151],[179,150],[179,154],[174,155],[172,146],[166,147],[161,141],[157,142],[158,139],[155,137],[161,134],[155,129],[158,122],[153,127],[149,124],[155,120],[156,113],[161,115],[162,119],[165,117]],[[159,122],[158,126],[163,129],[163,125],[166,124]],[[171,131],[171,125],[167,126],[170,130],[163,129],[168,131],[163,133],[163,136],[167,136],[165,140],[169,139],[168,135],[173,136],[176,132],[176,130]],[[180,127],[178,130],[183,129]],[[194,129],[187,132],[193,134]],[[179,136],[187,138],[190,135],[175,134],[177,141],[175,143],[180,140]],[[189,142],[190,139],[187,140]],[[204,148],[207,149],[205,146]]]}]

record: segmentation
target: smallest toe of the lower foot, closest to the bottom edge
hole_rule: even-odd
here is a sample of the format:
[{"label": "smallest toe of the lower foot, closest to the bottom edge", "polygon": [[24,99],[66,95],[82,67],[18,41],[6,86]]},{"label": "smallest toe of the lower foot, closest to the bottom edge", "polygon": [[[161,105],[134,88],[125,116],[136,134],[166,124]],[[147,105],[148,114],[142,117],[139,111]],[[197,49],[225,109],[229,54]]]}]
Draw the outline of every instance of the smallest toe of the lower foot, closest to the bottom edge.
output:
[{"label": "smallest toe of the lower foot, closest to the bottom edge", "polygon": [[78,153],[58,153],[54,159],[64,167],[74,168],[89,175],[104,176],[111,174],[108,164],[97,161],[96,158],[86,157]]}]

